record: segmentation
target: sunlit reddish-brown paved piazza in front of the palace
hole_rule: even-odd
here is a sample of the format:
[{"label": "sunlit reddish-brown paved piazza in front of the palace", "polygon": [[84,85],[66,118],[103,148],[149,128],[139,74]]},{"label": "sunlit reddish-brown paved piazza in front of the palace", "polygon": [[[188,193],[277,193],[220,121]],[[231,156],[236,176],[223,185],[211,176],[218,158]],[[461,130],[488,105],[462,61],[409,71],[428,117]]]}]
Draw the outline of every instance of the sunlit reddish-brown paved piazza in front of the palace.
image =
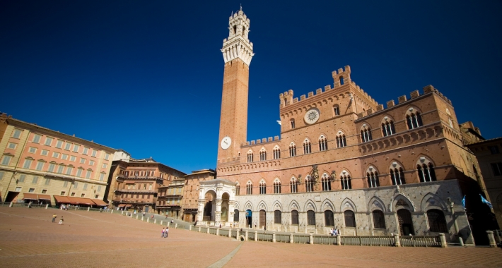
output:
[{"label": "sunlit reddish-brown paved piazza in front of the palace", "polygon": [[[64,217],[63,225],[51,223],[54,212],[58,219]],[[160,230],[159,225],[119,214],[0,207],[0,265],[502,267],[500,248],[387,248],[255,241],[241,243],[223,236],[172,228],[168,238],[160,238]],[[230,258],[232,252],[235,255]]]}]

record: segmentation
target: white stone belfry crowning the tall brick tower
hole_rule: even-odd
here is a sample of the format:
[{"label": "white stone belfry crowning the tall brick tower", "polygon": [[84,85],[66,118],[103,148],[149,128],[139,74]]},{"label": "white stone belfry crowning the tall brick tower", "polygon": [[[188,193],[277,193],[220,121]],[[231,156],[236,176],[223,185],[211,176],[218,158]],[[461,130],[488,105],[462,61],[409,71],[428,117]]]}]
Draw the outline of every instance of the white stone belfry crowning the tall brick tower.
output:
[{"label": "white stone belfry crowning the tall brick tower", "polygon": [[241,59],[247,66],[252,56],[252,42],[247,35],[250,32],[250,19],[240,10],[228,19],[228,38],[223,39],[223,59],[225,63],[233,59]]}]

